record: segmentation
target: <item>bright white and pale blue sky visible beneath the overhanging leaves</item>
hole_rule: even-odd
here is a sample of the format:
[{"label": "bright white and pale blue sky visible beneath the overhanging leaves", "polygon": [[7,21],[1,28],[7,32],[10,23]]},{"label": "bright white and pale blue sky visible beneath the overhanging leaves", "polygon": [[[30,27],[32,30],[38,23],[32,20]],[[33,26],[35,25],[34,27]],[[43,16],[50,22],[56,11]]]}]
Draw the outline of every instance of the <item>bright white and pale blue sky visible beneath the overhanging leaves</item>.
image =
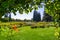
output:
[{"label": "bright white and pale blue sky visible beneath the overhanging leaves", "polygon": [[[40,13],[41,20],[42,20],[43,12],[44,12],[44,3],[41,3],[41,5],[42,5],[42,8],[38,8],[37,12]],[[13,13],[11,13],[11,15],[12,15],[12,18],[14,18],[14,19],[21,19],[21,20],[28,19],[28,20],[31,20],[31,18],[33,18],[33,13],[34,13],[34,10],[32,10],[32,12],[29,12],[28,14],[24,13],[24,12],[23,12],[23,14],[20,14],[19,11],[17,11],[16,15],[14,15]]]}]

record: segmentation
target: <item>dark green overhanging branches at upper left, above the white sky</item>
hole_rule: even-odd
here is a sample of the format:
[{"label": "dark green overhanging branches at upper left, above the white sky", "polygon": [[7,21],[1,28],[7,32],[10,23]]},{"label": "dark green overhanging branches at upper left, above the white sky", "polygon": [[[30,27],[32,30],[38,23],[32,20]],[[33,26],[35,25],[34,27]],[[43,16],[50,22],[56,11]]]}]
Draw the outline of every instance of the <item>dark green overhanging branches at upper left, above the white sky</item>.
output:
[{"label": "dark green overhanging branches at upper left, above the white sky", "polygon": [[[0,0],[0,19],[2,15],[7,12],[15,12],[18,10],[20,13],[31,11],[35,5],[36,0]],[[40,1],[36,1],[39,2]]]}]

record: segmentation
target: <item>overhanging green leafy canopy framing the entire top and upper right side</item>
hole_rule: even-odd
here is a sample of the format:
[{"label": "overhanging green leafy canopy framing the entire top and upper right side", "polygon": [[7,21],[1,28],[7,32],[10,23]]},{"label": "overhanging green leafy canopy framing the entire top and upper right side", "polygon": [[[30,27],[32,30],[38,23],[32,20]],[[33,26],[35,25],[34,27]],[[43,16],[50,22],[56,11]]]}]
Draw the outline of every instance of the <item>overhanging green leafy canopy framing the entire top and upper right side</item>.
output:
[{"label": "overhanging green leafy canopy framing the entire top and upper right side", "polygon": [[14,14],[17,10],[20,13],[23,13],[23,11],[31,12],[41,2],[45,3],[45,11],[52,15],[55,21],[59,19],[60,0],[0,0],[0,19],[7,12],[13,12]]}]

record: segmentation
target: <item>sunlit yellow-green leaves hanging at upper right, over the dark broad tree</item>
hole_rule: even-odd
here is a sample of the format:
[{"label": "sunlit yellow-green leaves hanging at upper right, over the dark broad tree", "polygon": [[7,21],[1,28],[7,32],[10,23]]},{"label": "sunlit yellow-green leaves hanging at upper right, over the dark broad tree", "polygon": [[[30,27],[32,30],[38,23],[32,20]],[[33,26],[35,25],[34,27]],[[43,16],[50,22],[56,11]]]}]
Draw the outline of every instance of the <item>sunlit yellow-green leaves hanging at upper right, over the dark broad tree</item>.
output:
[{"label": "sunlit yellow-green leaves hanging at upper right, over the dark broad tree", "polygon": [[54,18],[54,21],[58,21],[60,20],[59,16],[60,16],[60,1],[59,0],[54,0],[53,2],[52,1],[48,1],[46,3],[46,8],[45,8],[45,11],[52,15],[53,18]]}]

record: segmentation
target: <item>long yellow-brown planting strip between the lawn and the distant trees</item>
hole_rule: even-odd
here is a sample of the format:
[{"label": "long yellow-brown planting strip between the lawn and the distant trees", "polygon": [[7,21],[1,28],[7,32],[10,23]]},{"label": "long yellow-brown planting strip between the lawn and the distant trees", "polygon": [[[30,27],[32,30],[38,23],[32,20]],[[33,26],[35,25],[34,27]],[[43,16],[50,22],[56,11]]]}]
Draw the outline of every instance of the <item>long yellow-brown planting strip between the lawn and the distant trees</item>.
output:
[{"label": "long yellow-brown planting strip between the lawn and the distant trees", "polygon": [[17,25],[18,27],[24,27],[24,26],[31,26],[31,27],[59,27],[59,24],[56,23],[54,25],[54,22],[2,22],[0,23],[0,26],[9,26],[9,25]]}]

